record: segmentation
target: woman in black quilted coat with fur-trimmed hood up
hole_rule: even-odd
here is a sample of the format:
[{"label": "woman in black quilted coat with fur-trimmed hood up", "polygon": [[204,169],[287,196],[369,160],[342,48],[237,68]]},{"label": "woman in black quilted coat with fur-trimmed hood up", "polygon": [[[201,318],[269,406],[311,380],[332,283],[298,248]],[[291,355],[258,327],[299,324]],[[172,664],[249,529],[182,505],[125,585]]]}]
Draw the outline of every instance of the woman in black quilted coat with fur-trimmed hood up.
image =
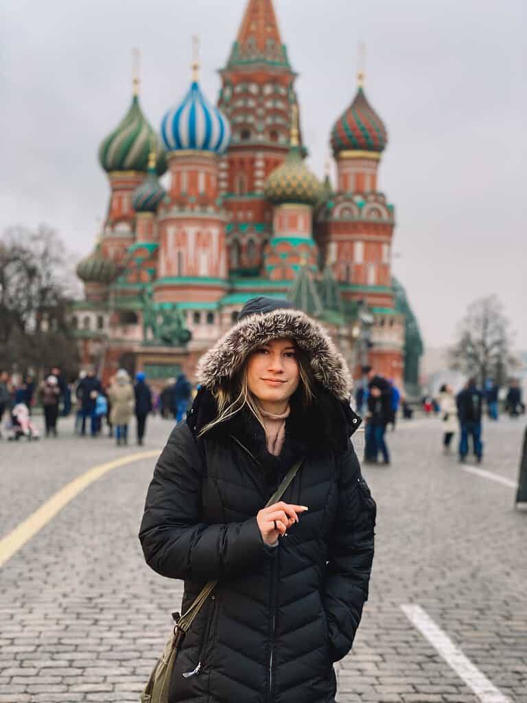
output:
[{"label": "woman in black quilted coat with fur-trimmed hood up", "polygon": [[[170,703],[333,703],[332,664],[367,600],[375,502],[350,435],[351,381],[322,328],[256,298],[200,361],[186,423],[148,489],[148,565],[218,584],[176,659]],[[262,509],[303,458],[282,501]]]}]

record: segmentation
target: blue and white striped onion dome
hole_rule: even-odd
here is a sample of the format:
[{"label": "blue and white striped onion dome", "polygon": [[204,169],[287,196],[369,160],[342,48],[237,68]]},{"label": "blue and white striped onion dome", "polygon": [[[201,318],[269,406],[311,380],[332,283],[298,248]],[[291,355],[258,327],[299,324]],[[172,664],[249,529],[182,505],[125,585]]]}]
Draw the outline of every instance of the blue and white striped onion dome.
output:
[{"label": "blue and white striped onion dome", "polygon": [[163,117],[161,138],[169,151],[199,149],[223,154],[230,141],[230,125],[194,81],[183,102]]}]

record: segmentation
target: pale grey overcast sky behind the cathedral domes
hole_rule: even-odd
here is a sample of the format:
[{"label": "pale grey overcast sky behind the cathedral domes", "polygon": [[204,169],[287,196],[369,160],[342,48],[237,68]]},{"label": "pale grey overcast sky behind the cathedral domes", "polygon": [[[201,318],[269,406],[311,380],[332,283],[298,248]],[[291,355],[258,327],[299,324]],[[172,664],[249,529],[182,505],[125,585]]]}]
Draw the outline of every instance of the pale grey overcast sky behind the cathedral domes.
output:
[{"label": "pale grey overcast sky behind the cathedral domes", "polygon": [[[81,256],[108,200],[102,138],[131,100],[158,128],[186,92],[192,34],[202,87],[219,76],[246,0],[4,0],[0,10],[0,230],[58,229]],[[330,129],[366,93],[389,146],[379,185],[396,207],[393,271],[430,346],[452,342],[472,300],[497,293],[527,349],[526,8],[522,0],[275,0],[299,73],[309,164],[321,177]]]}]

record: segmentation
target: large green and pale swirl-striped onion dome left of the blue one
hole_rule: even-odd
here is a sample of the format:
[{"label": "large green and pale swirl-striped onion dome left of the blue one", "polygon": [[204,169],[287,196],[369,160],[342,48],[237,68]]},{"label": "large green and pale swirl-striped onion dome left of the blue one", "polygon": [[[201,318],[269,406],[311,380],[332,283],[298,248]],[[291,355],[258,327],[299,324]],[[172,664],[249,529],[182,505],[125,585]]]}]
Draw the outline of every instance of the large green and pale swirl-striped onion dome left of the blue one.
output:
[{"label": "large green and pale swirl-striped onion dome left of the blue one", "polygon": [[167,170],[167,160],[160,139],[148,124],[138,96],[134,95],[128,112],[119,125],[99,147],[99,162],[103,169],[112,171],[146,171],[150,150],[157,153],[157,173]]}]

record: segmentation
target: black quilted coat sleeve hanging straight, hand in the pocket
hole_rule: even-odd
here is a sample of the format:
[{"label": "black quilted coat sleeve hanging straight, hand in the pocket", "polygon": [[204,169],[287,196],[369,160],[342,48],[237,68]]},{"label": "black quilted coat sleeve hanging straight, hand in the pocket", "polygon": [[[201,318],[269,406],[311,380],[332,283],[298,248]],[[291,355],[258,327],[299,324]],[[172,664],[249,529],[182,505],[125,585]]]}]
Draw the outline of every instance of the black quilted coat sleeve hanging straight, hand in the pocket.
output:
[{"label": "black quilted coat sleeve hanging straight, hand in the pocket", "polygon": [[351,447],[341,459],[337,518],[330,535],[323,593],[334,662],[351,650],[367,600],[376,513],[377,506]]}]

